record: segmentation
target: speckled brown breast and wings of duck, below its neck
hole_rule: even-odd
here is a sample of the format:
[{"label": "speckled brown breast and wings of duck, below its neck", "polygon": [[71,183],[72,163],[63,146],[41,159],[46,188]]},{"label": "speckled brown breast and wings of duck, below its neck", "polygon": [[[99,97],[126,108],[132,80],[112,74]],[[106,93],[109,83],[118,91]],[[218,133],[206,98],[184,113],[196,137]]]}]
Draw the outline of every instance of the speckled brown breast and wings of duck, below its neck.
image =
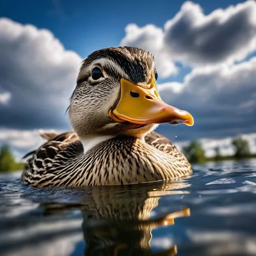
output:
[{"label": "speckled brown breast and wings of duck, below its neck", "polygon": [[165,137],[151,132],[145,142],[120,136],[84,155],[77,134],[64,133],[32,153],[22,181],[36,187],[114,185],[172,179],[191,172],[184,155]]}]

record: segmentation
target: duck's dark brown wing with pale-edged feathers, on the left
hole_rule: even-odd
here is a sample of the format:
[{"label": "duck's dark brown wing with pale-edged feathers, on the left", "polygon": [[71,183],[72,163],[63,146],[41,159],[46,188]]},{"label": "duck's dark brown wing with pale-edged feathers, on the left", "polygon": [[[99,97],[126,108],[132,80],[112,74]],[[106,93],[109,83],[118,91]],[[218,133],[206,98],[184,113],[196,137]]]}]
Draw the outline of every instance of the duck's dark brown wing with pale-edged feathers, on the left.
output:
[{"label": "duck's dark brown wing with pale-edged feathers, on the left", "polygon": [[[51,138],[50,141],[42,144],[38,150],[31,151],[26,154],[27,162],[24,166],[22,174],[22,182],[32,186],[40,186],[39,182],[47,182],[46,179],[41,180],[44,174],[52,180],[63,163],[69,159],[74,159],[83,151],[82,144],[74,132],[66,132],[58,134]],[[47,179],[48,179],[47,178]]]}]

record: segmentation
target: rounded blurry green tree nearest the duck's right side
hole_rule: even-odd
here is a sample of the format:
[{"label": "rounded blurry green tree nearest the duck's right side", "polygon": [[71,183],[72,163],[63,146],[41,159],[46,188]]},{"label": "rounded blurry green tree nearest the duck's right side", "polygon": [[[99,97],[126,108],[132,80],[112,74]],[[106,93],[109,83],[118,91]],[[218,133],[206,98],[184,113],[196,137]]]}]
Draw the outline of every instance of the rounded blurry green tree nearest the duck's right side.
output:
[{"label": "rounded blurry green tree nearest the duck's right side", "polygon": [[205,153],[198,141],[191,141],[188,146],[183,147],[183,152],[191,163],[205,162]]}]

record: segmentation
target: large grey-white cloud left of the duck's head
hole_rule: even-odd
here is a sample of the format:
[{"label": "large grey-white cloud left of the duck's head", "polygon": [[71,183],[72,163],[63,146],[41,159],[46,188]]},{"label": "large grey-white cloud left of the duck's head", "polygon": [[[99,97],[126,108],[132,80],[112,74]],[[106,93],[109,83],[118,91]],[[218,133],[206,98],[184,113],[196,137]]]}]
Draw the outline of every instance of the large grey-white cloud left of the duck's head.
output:
[{"label": "large grey-white cloud left of the duck's head", "polygon": [[13,129],[69,127],[65,110],[81,58],[54,35],[0,19],[0,125]]}]

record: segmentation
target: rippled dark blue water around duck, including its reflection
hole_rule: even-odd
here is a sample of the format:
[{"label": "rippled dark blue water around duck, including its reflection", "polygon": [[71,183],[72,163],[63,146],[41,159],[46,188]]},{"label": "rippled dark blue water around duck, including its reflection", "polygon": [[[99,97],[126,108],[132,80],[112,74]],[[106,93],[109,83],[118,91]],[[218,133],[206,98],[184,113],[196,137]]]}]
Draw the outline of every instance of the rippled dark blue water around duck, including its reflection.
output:
[{"label": "rippled dark blue water around duck, including its reflection", "polygon": [[38,189],[0,176],[1,255],[256,255],[256,160],[174,183]]}]

